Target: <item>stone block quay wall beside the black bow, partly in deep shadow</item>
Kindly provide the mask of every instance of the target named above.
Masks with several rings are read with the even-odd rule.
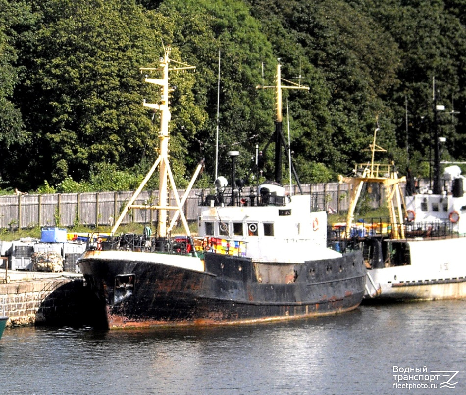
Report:
[[[74,326],[89,321],[90,292],[83,278],[52,278],[0,284],[0,313],[8,327]]]

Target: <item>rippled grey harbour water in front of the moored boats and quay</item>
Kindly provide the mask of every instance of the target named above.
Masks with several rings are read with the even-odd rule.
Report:
[[[465,313],[436,301],[255,326],[6,330],[0,393],[466,394]],[[454,388],[394,388],[394,365],[459,373]]]

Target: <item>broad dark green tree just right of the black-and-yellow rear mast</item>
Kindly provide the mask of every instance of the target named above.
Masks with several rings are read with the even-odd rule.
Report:
[[[379,114],[387,125],[380,139],[392,146],[392,114],[384,99],[397,84],[400,53],[391,36],[341,0],[251,3],[253,15],[264,21],[268,40],[277,43],[279,56],[301,48],[306,72],[301,74],[312,95],[311,106],[301,104],[298,111],[302,133],[294,151],[301,166],[320,162],[334,172],[346,172],[364,157],[362,149],[371,141]],[[308,175],[306,181],[313,180],[311,167],[302,173]]]

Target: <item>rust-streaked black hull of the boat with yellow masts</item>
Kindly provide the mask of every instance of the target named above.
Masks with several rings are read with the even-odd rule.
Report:
[[[137,260],[86,258],[79,266],[107,328],[209,325],[318,316],[349,311],[362,301],[360,251],[341,258],[284,265],[290,283],[259,282],[250,259],[206,253],[204,271]],[[157,255],[157,254],[155,254]],[[260,265],[267,270],[280,264]]]

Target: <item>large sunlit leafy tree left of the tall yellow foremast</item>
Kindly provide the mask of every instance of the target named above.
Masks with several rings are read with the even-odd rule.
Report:
[[[154,59],[160,33],[145,11],[131,0],[41,5],[34,61],[19,98],[33,135],[20,157],[25,165],[33,158],[29,183],[85,181],[91,165],[129,167],[143,151],[153,159],[156,130],[141,105],[148,90],[138,68]]]

